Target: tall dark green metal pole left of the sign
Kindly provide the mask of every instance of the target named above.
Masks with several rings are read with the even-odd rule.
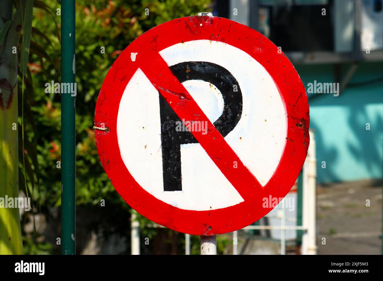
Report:
[[[75,0],[62,0],[61,83],[71,83],[73,89],[75,89],[74,55]],[[74,255],[76,234],[75,94],[70,91],[61,93],[61,161],[61,253]]]

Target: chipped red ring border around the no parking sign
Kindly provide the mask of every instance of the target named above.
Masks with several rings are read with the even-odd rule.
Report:
[[[285,149],[271,179],[252,202],[242,202],[218,210],[182,210],[158,200],[134,180],[121,159],[116,122],[123,91],[137,70],[137,58],[144,52],[159,52],[173,44],[208,39],[237,47],[257,60],[272,76],[287,113]],[[144,51],[142,51],[144,50]],[[146,218],[193,235],[216,235],[235,231],[265,216],[263,198],[283,198],[293,186],[303,166],[309,146],[309,106],[306,90],[288,58],[259,32],[235,21],[209,16],[190,16],[160,24],[134,40],[119,55],[108,71],[98,95],[95,126],[97,150],[102,166],[121,197]],[[278,199],[278,202],[280,200]]]

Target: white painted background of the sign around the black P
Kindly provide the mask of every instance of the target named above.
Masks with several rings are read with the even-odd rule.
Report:
[[[236,78],[242,114],[224,139],[260,184],[267,184],[281,159],[287,129],[285,107],[265,68],[241,49],[218,41],[188,41],[159,54],[169,66],[210,62]],[[202,80],[182,84],[212,123],[223,113],[223,95],[216,85]],[[238,94],[234,89],[233,93]],[[134,73],[121,98],[117,135],[125,166],[138,184],[159,200],[196,211],[243,201],[199,143],[181,144],[182,190],[164,191],[159,93],[141,69]]]

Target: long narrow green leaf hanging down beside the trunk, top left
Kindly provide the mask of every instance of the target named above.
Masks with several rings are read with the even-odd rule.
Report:
[[[25,13],[23,20],[23,44],[21,45],[20,71],[26,75],[28,65],[29,46],[31,44],[32,33],[33,0],[25,3]]]

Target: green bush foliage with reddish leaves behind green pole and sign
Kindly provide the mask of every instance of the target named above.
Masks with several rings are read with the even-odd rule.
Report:
[[[60,74],[60,7],[59,1],[34,1],[34,19],[29,58],[29,76],[25,82],[25,173],[29,193],[33,195],[33,214],[51,213],[61,205],[61,96],[46,94],[45,84],[61,82]],[[145,15],[145,9],[149,15]],[[97,207],[100,200],[119,210],[119,216],[129,218],[130,207],[111,185],[98,158],[93,119],[98,92],[103,79],[118,54],[134,39],[150,28],[182,16],[211,11],[209,0],[110,0],[76,1],[76,203],[77,206]],[[101,50],[105,48],[105,54]],[[21,85],[21,83],[19,83]],[[19,91],[21,93],[21,90]],[[19,110],[21,112],[21,110]],[[20,180],[21,183],[24,180]],[[79,212],[77,211],[77,214]],[[22,222],[28,221],[26,214]],[[56,216],[60,219],[59,216]],[[142,235],[152,238],[156,229],[139,216]],[[123,221],[126,223],[126,220]],[[170,230],[167,230],[170,235]],[[59,232],[59,231],[58,231]],[[23,232],[25,253],[52,253],[59,247],[56,240],[47,241],[34,231]],[[59,233],[56,237],[59,237]],[[184,236],[180,240],[180,250]],[[77,240],[77,239],[76,239]],[[168,241],[169,242],[169,241]],[[77,242],[79,243],[79,242]],[[219,239],[218,252],[228,242]],[[53,247],[53,246],[54,247]],[[181,252],[181,253],[182,253]],[[199,253],[199,237],[192,238],[192,253]]]

